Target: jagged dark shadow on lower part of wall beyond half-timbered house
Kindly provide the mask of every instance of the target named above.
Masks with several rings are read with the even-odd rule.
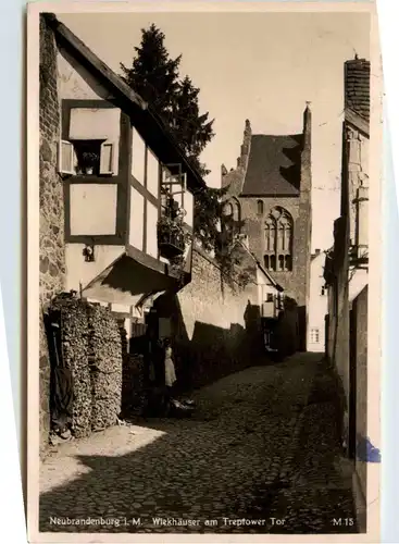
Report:
[[[260,326],[260,308],[248,300],[245,326],[229,329],[196,321],[191,339],[187,334],[179,300],[164,295],[157,302],[159,317],[170,317],[176,373],[182,391],[211,383],[232,372],[265,362]]]

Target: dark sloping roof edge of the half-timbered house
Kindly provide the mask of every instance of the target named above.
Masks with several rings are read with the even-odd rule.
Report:
[[[74,57],[95,73],[112,89],[115,98],[124,104],[123,109],[134,114],[137,128],[151,149],[164,163],[182,163],[187,172],[189,187],[203,187],[205,183],[199,171],[191,164],[177,139],[163,123],[151,104],[135,92],[115,72],[102,62],[75,34],[61,23],[53,13],[41,14],[54,32],[57,40],[73,52]]]

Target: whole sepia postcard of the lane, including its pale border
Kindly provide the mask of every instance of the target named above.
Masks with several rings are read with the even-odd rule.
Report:
[[[374,4],[189,3],[29,5],[30,537],[376,542]]]

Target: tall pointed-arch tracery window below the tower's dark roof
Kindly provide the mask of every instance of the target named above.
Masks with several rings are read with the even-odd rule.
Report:
[[[284,208],[270,212],[264,224],[264,265],[273,272],[292,270],[292,218]]]

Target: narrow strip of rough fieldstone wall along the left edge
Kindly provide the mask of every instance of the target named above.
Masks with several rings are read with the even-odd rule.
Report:
[[[47,443],[50,391],[48,344],[42,323],[42,310],[53,295],[63,290],[65,276],[64,210],[62,180],[57,172],[60,135],[60,108],[57,79],[57,47],[54,36],[40,17],[40,443]]]

